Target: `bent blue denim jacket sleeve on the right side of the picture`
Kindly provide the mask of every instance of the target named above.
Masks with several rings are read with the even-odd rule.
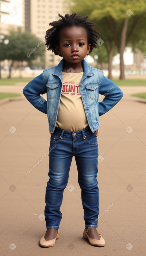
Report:
[[[99,86],[99,93],[105,96],[103,101],[99,102],[99,116],[109,111],[123,97],[121,89],[105,76]]]

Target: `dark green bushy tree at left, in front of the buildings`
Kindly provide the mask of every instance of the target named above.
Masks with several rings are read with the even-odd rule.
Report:
[[[11,68],[14,61],[31,63],[39,56],[44,56],[45,45],[43,42],[45,42],[45,39],[40,40],[30,30],[22,31],[21,28],[18,28],[17,31],[11,30],[10,35],[5,36],[5,38],[9,39],[9,44],[1,43],[1,60],[11,60],[9,78],[11,77]]]

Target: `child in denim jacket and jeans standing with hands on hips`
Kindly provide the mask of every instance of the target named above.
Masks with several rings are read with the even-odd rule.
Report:
[[[48,68],[23,89],[25,97],[47,114],[51,134],[49,181],[46,187],[45,220],[47,231],[40,246],[54,246],[59,238],[62,218],[60,207],[66,188],[72,157],[75,157],[78,182],[82,191],[85,229],[83,238],[91,245],[105,246],[98,233],[98,128],[99,116],[123,97],[118,86],[84,60],[96,48],[100,33],[87,17],[76,13],[59,14],[60,20],[49,25],[46,46],[63,57],[56,67]],[[47,101],[40,94],[47,93]],[[99,93],[106,96],[98,103]]]

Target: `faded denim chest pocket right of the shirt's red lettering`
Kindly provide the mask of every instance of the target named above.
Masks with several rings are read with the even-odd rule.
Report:
[[[99,93],[99,84],[98,83],[89,83],[85,84],[87,96],[89,99],[97,100]]]

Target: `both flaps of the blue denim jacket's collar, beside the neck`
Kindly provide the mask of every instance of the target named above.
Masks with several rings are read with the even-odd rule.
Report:
[[[65,65],[65,60],[62,59],[59,62],[59,64],[56,66],[52,75],[60,76],[62,74],[64,65]],[[82,60],[82,65],[83,65],[84,77],[94,75],[94,73],[92,72],[92,68],[87,64],[87,62],[84,59]]]

